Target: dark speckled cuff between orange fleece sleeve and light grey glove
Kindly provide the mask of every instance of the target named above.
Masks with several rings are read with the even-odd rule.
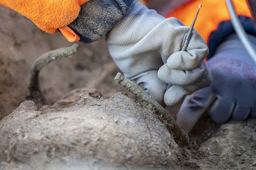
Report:
[[[78,17],[68,26],[79,35],[80,41],[98,40],[126,14],[135,0],[90,0],[81,5]]]

